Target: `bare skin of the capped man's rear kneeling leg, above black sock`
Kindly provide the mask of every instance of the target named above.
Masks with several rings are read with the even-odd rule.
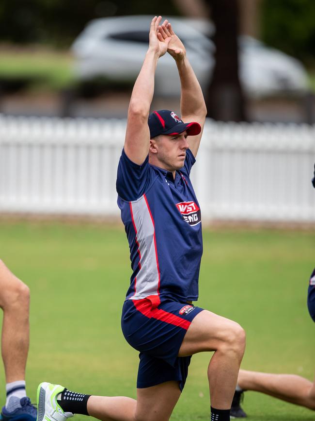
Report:
[[[137,389],[137,401],[122,396],[91,396],[88,413],[102,421],[168,421],[180,396],[178,382]]]

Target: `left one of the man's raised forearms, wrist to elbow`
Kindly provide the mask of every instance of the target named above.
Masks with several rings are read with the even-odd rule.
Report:
[[[154,76],[157,68],[158,54],[148,50],[140,73],[134,84],[129,108],[149,114],[154,94]]]

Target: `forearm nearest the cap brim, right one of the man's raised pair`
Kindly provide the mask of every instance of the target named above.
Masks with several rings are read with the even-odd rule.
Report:
[[[206,115],[204,95],[188,58],[177,60],[176,65],[181,84],[181,115]]]

